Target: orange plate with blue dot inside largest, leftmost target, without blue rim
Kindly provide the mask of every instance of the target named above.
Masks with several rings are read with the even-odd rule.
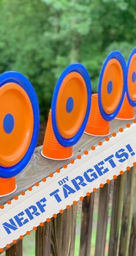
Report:
[[[0,166],[11,167],[24,157],[33,134],[32,105],[21,86],[0,87],[0,112]]]

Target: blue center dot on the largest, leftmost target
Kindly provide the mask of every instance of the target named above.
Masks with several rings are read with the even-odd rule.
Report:
[[[5,133],[12,133],[14,128],[14,118],[13,115],[7,114],[5,115],[5,118],[3,119],[3,129],[5,130]]]

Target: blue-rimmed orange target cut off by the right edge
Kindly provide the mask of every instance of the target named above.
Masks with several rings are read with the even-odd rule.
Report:
[[[127,98],[131,106],[136,106],[136,48],[131,52],[127,63]]]

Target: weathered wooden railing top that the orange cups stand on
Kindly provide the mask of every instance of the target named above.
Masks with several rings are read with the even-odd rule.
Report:
[[[109,134],[109,137],[112,136],[114,131],[118,133],[120,127],[128,129],[126,128],[126,123],[133,123],[133,120],[113,120],[110,123],[111,133]],[[82,155],[85,150],[89,150],[92,145],[97,145],[99,141],[105,141],[105,137],[88,136],[83,134],[80,141],[78,141],[78,143],[73,147],[73,159],[75,159],[79,154]],[[56,169],[61,168],[64,163],[69,163],[70,161],[49,160],[43,158],[43,156],[41,156],[41,149],[41,146],[35,149],[28,166],[17,175],[17,191],[12,195],[0,198],[0,204],[5,204],[7,200],[12,200],[14,195],[20,195],[21,191],[26,191],[29,186],[33,186],[35,182],[41,181],[43,177],[48,177],[48,174],[55,173]]]

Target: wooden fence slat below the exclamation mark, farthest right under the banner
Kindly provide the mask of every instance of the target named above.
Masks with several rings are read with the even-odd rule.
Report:
[[[127,256],[130,242],[130,228],[134,203],[135,172],[132,167],[130,173],[127,171],[124,186],[124,204],[122,215],[122,228],[120,233],[119,255]]]

